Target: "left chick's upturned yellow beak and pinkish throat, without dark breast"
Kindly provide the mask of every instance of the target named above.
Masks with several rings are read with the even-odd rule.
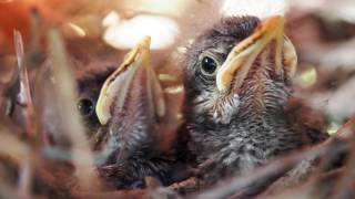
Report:
[[[123,153],[152,142],[164,116],[162,87],[150,62],[150,38],[145,36],[105,80],[95,112],[104,127],[105,144]]]

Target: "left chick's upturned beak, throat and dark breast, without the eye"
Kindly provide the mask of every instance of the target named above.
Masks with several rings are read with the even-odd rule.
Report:
[[[104,82],[97,102],[100,127],[95,149],[104,160],[99,171],[118,189],[144,188],[144,178],[171,184],[173,149],[162,149],[165,102],[151,66],[145,36]]]

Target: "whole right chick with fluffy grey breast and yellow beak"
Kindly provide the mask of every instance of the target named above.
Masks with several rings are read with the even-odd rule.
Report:
[[[327,137],[290,111],[296,53],[283,29],[282,15],[229,17],[186,53],[189,145],[207,185]]]

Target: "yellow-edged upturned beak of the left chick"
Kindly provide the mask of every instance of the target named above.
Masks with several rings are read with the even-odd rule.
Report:
[[[144,36],[139,44],[126,55],[123,63],[104,82],[97,103],[97,114],[102,125],[108,124],[112,117],[112,109],[120,111],[128,103],[134,81],[140,81],[146,96],[139,96],[140,100],[150,101],[151,113],[163,117],[165,104],[161,84],[151,66],[150,52],[151,38]],[[134,83],[136,85],[136,83]],[[139,93],[139,92],[138,92]],[[139,106],[139,104],[136,104]],[[132,118],[134,119],[134,118]]]

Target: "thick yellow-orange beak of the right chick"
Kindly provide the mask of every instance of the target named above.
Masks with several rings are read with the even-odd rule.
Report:
[[[264,20],[252,35],[236,44],[216,75],[220,92],[229,91],[232,82],[242,86],[257,55],[273,41],[275,48],[275,72],[277,75],[293,76],[297,66],[297,55],[291,41],[284,35],[285,19],[275,15]]]

